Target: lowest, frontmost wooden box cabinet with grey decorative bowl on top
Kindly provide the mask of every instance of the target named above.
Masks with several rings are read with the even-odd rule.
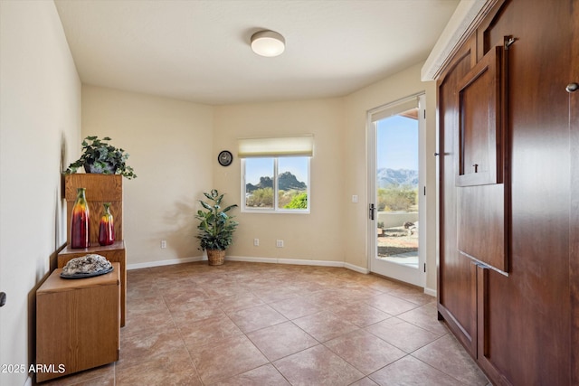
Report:
[[[36,291],[36,381],[119,360],[120,264],[94,278],[55,269]]]

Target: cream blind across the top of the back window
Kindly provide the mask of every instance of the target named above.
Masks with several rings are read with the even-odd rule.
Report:
[[[237,156],[240,158],[314,155],[314,136],[311,134],[300,137],[240,138],[237,144]]]

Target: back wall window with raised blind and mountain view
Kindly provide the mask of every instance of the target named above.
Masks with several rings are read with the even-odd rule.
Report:
[[[242,212],[309,212],[313,137],[240,139]]]

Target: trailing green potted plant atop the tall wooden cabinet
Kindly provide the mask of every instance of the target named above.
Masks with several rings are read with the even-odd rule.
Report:
[[[84,167],[86,173],[121,174],[128,180],[137,178],[133,168],[127,165],[128,154],[122,148],[109,144],[110,138],[86,137],[82,141],[82,155],[64,172],[73,174]]]

